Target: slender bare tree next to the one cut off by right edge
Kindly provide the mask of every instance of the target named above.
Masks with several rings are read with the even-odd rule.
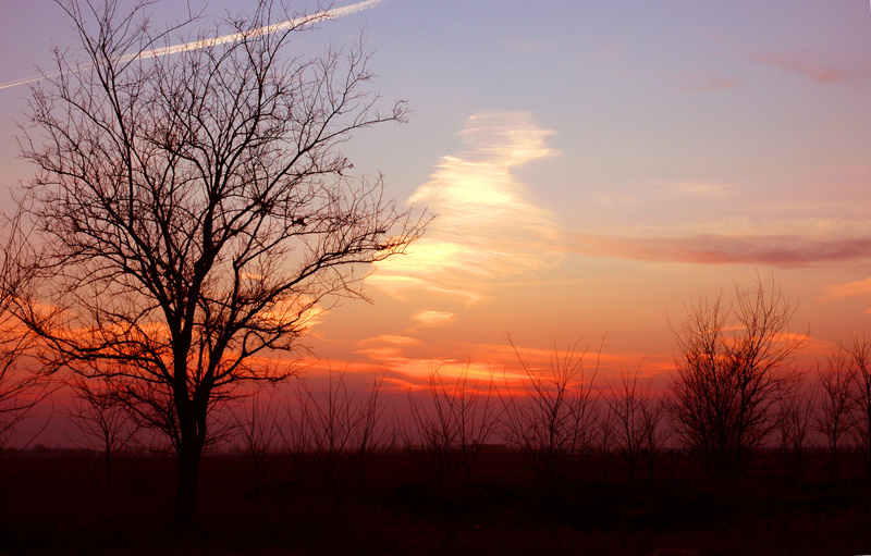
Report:
[[[832,482],[841,479],[838,454],[851,425],[855,379],[852,371],[854,368],[841,347],[829,357],[824,369],[817,369],[820,380],[820,404],[814,422],[817,430],[825,436],[829,450],[829,478]]]

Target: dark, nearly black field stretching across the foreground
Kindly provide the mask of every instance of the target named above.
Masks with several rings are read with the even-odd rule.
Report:
[[[735,483],[662,455],[635,483],[616,456],[590,457],[543,484],[519,454],[482,454],[471,480],[407,453],[334,462],[245,456],[203,464],[198,524],[170,528],[171,458],[19,455],[0,466],[2,554],[799,554],[871,553],[871,494],[825,480],[811,455],[801,481],[775,456]],[[326,469],[333,468],[332,472]],[[859,473],[854,462],[852,477]],[[696,551],[675,553],[668,551]],[[662,552],[657,552],[662,551]]]

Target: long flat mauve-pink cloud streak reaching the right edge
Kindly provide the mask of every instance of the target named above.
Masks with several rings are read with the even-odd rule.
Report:
[[[795,235],[612,237],[578,235],[573,250],[625,259],[805,267],[871,258],[871,238],[811,239]]]

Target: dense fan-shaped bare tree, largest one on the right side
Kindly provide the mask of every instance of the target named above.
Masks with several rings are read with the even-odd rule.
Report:
[[[794,305],[760,279],[735,298],[702,297],[675,330],[679,356],[667,411],[684,445],[721,475],[740,472],[776,425],[777,394],[795,376],[807,335],[789,332]]]

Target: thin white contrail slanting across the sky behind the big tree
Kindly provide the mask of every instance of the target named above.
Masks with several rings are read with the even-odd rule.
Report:
[[[242,40],[246,37],[258,37],[261,35],[271,35],[272,33],[278,33],[281,30],[289,30],[294,27],[298,27],[300,25],[309,25],[312,23],[317,23],[324,20],[335,20],[338,17],[343,17],[345,15],[351,15],[353,13],[361,12],[364,10],[369,10],[375,8],[376,5],[387,2],[388,0],[366,0],[365,2],[358,2],[356,4],[345,5],[343,8],[334,8],[332,10],[324,10],[322,12],[318,12],[311,15],[304,15],[302,17],[295,17],[293,20],[287,20],[286,22],[281,23],[273,23],[272,25],[267,25],[265,27],[260,27],[257,29],[248,30],[245,33],[234,33],[232,35],[224,35],[222,37],[214,37],[214,38],[207,38],[203,40],[194,40],[191,42],[185,42],[183,45],[175,45],[173,47],[162,47],[156,48],[154,50],[146,50],[144,52],[135,52],[131,54],[124,54],[118,59],[119,62],[130,62],[133,60],[148,60],[149,58],[158,58],[161,55],[170,55],[170,54],[177,54],[179,52],[188,52],[191,50],[199,50],[200,48],[209,48],[209,47],[217,47],[219,45],[226,45],[228,42],[236,42]],[[75,71],[81,72],[84,70],[88,70],[94,67],[93,64],[79,65]],[[7,82],[0,84],[0,90],[9,89],[11,87],[17,87],[19,85],[27,85],[28,83],[36,83],[38,81],[45,79],[46,77],[57,77],[60,75],[59,72],[49,73],[49,74],[39,74],[39,75],[32,75],[30,77],[24,77],[22,79],[16,79],[13,82]]]

